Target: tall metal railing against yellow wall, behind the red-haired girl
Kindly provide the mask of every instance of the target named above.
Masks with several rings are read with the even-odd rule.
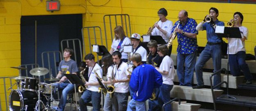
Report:
[[[120,16],[120,17],[119,17]],[[115,27],[118,26],[120,24],[120,26],[122,26],[122,28],[124,29],[124,31],[126,32],[126,36],[127,37],[131,37],[131,23],[130,23],[130,16],[128,14],[113,14],[113,15],[104,15],[103,17],[103,21],[104,21],[104,31],[105,31],[105,37],[107,38],[107,34],[106,34],[106,17],[108,17],[109,19],[109,30],[110,30],[110,34],[111,34],[111,41],[113,40],[113,27],[112,27],[112,19],[111,17],[114,17],[114,23],[115,23]],[[118,19],[120,18],[120,19]],[[128,20],[127,20],[128,19]],[[118,20],[120,20],[120,23],[118,23]],[[128,24],[127,24],[128,22]],[[129,30],[128,30],[129,29]],[[130,35],[128,35],[130,34]],[[108,46],[106,44],[106,48],[108,49]]]

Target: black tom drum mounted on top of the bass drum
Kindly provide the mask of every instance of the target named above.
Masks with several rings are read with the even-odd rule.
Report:
[[[38,90],[38,79],[32,77],[25,78],[25,90],[27,91],[37,91]]]

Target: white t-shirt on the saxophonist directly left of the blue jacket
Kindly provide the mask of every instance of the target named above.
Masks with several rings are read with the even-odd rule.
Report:
[[[117,80],[126,79],[127,75],[129,75],[129,73],[127,72],[128,65],[125,62],[122,62],[118,69],[117,67],[118,65],[114,66],[114,70],[113,70],[113,67],[108,68],[107,78],[111,77],[112,70],[113,70],[113,76]],[[129,82],[115,83],[114,87],[115,87],[114,89],[115,92],[127,93],[129,91]]]

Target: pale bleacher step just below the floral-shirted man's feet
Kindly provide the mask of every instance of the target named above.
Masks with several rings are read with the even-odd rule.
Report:
[[[220,96],[223,93],[223,90],[214,89],[215,97]],[[170,91],[170,96],[172,98],[180,98],[185,100],[195,100],[202,102],[211,102],[213,103],[211,89],[193,89],[188,86],[179,86],[174,85]]]

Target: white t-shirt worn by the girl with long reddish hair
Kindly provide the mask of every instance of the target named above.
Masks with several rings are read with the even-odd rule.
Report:
[[[121,41],[121,39],[116,39],[116,40],[113,39],[111,48],[113,48],[114,51],[116,51],[116,48],[117,48],[120,41]],[[121,48],[119,50],[119,51],[122,52],[122,59],[128,59],[128,54],[123,52],[123,50],[124,50],[124,45],[129,45],[129,44],[131,44],[131,40],[128,37],[125,37],[124,41],[121,44]]]

